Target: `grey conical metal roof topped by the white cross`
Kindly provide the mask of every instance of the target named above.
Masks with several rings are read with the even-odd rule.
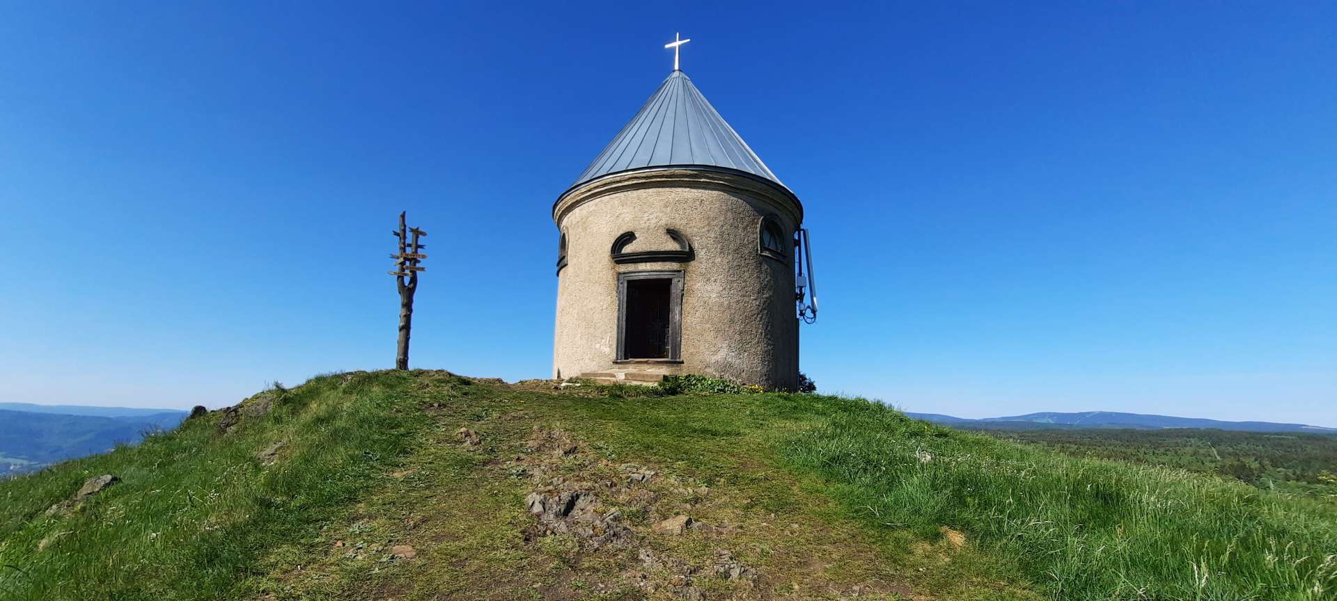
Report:
[[[722,167],[785,188],[682,71],[659,84],[571,188],[604,175],[652,167]]]

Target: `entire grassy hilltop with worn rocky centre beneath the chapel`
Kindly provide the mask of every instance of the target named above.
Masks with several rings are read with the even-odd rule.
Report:
[[[16,600],[1337,598],[1334,502],[821,395],[333,374],[0,498]]]

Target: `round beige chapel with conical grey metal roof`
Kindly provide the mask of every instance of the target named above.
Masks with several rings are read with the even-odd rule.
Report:
[[[664,79],[552,219],[554,377],[794,389],[804,207],[686,73]]]

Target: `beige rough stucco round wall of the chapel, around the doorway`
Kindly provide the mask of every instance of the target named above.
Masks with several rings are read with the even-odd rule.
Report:
[[[668,175],[627,175],[619,178],[620,187],[568,195],[559,203],[558,226],[568,246],[558,283],[554,377],[636,370],[793,387],[798,370],[793,248],[786,248],[783,262],[761,255],[758,224],[763,215],[774,216],[787,239],[797,211],[755,183],[729,186],[730,178],[742,178],[711,174],[711,183],[702,186],[690,171]],[[677,250],[667,228],[691,242],[693,260],[612,262],[612,242],[626,231],[636,234],[627,252]],[[615,363],[618,274],[671,270],[683,271],[682,363]]]

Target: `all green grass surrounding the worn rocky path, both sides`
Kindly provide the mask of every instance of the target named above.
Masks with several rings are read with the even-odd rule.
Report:
[[[971,556],[996,558],[1004,580],[1054,600],[1337,600],[1337,516],[1328,501],[1064,457],[860,399],[614,398],[623,393],[475,385],[481,390],[461,401],[457,383],[386,371],[274,386],[263,393],[277,398],[274,409],[231,433],[221,431],[215,413],[139,446],[3,482],[0,598],[245,598],[255,593],[250,576],[298,569],[259,565],[267,552],[328,550],[313,548],[321,528],[441,427],[424,406],[444,401],[468,411],[485,398],[493,406],[480,411],[524,407],[516,417],[562,421],[622,453],[690,466],[725,489],[790,470],[817,481],[805,493],[825,491],[848,509],[834,518],[854,514],[892,534],[872,538],[908,541],[910,532],[932,541],[952,528],[979,549]],[[539,402],[520,405],[527,399]],[[257,458],[275,442],[286,445],[277,462]],[[45,516],[104,473],[123,482],[70,516]],[[769,505],[781,498],[754,499],[754,508],[782,512]]]

